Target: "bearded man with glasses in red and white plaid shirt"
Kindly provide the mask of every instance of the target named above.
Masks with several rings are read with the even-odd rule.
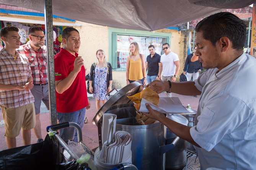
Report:
[[[18,52],[26,56],[29,60],[34,83],[31,93],[35,98],[34,105],[36,109],[36,126],[34,128],[34,133],[38,139],[37,142],[42,142],[41,122],[39,119],[41,101],[44,102],[49,110],[47,54],[46,46],[44,45],[45,36],[42,28],[37,26],[29,28],[28,36],[29,42],[21,45]]]

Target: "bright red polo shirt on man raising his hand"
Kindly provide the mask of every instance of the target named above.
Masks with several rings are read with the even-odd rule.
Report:
[[[55,81],[65,79],[73,71],[76,57],[78,53],[74,56],[67,50],[60,49],[60,52],[54,56]],[[66,91],[62,94],[56,91],[56,106],[57,112],[62,113],[75,112],[88,106],[84,66]]]

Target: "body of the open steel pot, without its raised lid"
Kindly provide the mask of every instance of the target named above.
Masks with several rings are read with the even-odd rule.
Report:
[[[116,130],[132,135],[132,164],[139,170],[165,169],[165,154],[159,156],[159,147],[166,142],[166,128],[160,122],[139,125],[135,120],[134,104],[111,106],[106,113],[117,115]]]

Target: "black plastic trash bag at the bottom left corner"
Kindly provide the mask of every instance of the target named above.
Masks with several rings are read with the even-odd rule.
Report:
[[[0,170],[58,170],[61,162],[59,141],[49,135],[40,143],[0,151]]]

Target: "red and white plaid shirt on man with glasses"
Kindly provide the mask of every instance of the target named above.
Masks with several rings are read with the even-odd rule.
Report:
[[[17,51],[28,58],[33,83],[48,83],[46,46],[44,45],[43,47],[40,47],[38,51],[34,51],[30,46],[30,42],[28,42],[21,45]]]

